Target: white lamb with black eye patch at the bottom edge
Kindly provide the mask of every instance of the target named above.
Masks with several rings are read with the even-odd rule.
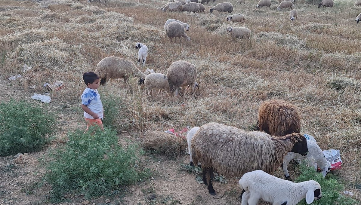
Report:
[[[296,205],[305,198],[311,204],[322,197],[321,186],[314,180],[293,183],[262,170],[245,173],[238,184],[242,189],[241,205],[256,205],[259,199],[273,205]]]

